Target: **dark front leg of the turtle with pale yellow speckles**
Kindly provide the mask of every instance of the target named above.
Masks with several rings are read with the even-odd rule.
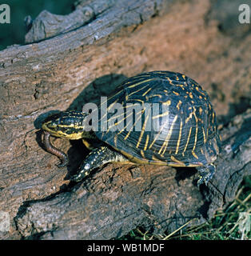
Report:
[[[71,180],[79,182],[88,176],[92,170],[103,166],[107,162],[129,163],[129,160],[117,151],[111,150],[107,146],[101,146],[88,154],[84,162],[82,162],[82,165],[79,167],[78,174],[72,176]]]

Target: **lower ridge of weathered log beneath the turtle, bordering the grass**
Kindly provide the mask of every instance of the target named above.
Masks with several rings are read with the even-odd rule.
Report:
[[[217,172],[207,187],[197,188],[194,168],[109,164],[80,184],[26,202],[18,230],[40,239],[110,239],[137,226],[162,234],[189,220],[201,224],[233,201],[251,174],[250,123],[251,109],[222,128]]]

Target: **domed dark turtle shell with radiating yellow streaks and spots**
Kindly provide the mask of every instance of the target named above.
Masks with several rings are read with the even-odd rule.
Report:
[[[192,78],[169,71],[139,74],[102,102],[97,137],[131,162],[205,166],[218,154],[215,112]],[[103,126],[104,128],[104,126]]]

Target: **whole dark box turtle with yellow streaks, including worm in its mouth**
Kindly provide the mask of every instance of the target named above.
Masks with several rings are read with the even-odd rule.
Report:
[[[87,129],[95,111],[98,128]],[[46,150],[62,160],[58,166],[66,166],[68,159],[51,145],[50,135],[82,138],[91,150],[72,177],[76,182],[107,162],[131,162],[196,166],[198,184],[206,184],[213,177],[221,145],[208,94],[192,78],[169,71],[128,78],[91,114],[54,114],[43,122],[42,130]]]

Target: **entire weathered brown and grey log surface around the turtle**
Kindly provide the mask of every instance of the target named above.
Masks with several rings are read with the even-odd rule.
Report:
[[[85,26],[0,52],[0,210],[11,220],[1,238],[109,239],[136,226],[171,231],[212,218],[250,174],[250,25],[227,26],[232,13],[225,9],[222,18],[210,1],[101,2],[80,2],[95,14]],[[70,157],[68,170],[58,170],[42,148],[42,120],[52,110],[97,102],[148,70],[185,73],[208,91],[223,138],[212,183],[198,190],[193,168],[118,164],[69,182],[86,149],[54,139]]]

